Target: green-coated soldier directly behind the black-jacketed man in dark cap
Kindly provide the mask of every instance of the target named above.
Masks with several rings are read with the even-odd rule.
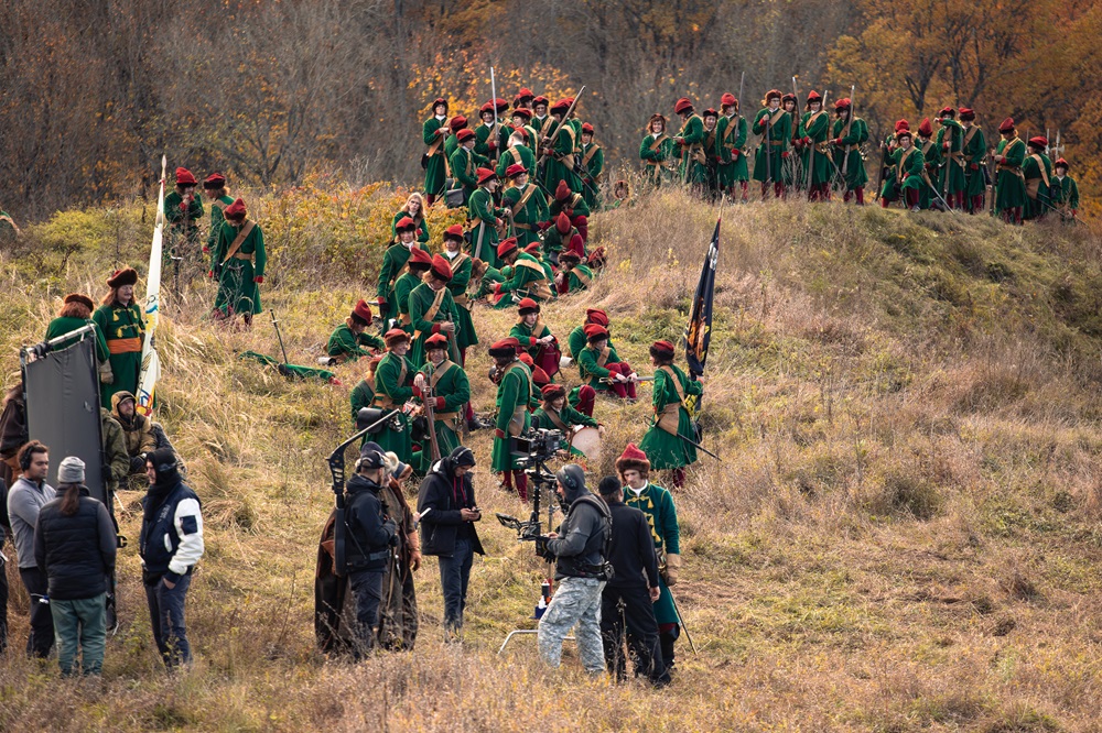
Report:
[[[433,427],[440,456],[447,456],[460,447],[463,430],[463,412],[471,402],[471,382],[463,368],[447,358],[447,337],[433,333],[424,342],[425,363],[413,378],[413,395],[422,403],[432,401]],[[413,453],[412,466],[418,473],[426,474],[435,457],[428,438],[421,450]]]

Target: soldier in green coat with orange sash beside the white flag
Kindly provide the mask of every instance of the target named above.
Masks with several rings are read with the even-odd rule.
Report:
[[[91,319],[104,335],[110,370],[99,371],[99,404],[111,404],[111,395],[121,390],[138,392],[141,373],[141,348],[145,341],[145,316],[134,302],[138,271],[116,270],[107,278],[110,288]]]

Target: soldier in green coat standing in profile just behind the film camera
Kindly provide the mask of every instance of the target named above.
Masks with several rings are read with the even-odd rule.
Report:
[[[532,424],[531,413],[528,412],[532,401],[532,373],[517,359],[517,346],[516,339],[501,339],[489,348],[489,355],[500,374],[490,468],[501,473],[503,489],[512,491],[516,484],[520,500],[528,501],[528,477],[512,455],[512,444]]]

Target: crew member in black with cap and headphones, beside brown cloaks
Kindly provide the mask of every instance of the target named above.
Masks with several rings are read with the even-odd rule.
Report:
[[[379,492],[382,491],[386,457],[365,445],[356,461],[356,473],[345,488],[347,505],[345,525],[348,537],[345,557],[348,566],[348,588],[356,601],[356,656],[377,643],[379,603],[382,600],[382,576],[388,562],[395,561],[398,525],[382,513]]]

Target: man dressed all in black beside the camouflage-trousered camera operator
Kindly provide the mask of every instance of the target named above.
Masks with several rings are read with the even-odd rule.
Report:
[[[670,675],[662,663],[658,622],[652,608],[661,595],[661,589],[658,586],[658,556],[650,536],[650,524],[646,514],[624,503],[624,488],[616,477],[602,479],[597,491],[613,515],[608,561],[616,573],[601,593],[601,636],[608,671],[616,675],[617,680],[626,677],[623,635],[627,622],[627,639],[635,659],[636,676],[646,675],[655,687],[669,685]]]

